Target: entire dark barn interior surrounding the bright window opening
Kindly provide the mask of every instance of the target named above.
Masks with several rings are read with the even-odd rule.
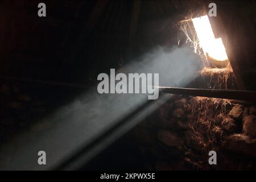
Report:
[[[256,1],[40,2],[0,1],[0,169],[256,169]],[[212,2],[225,61],[192,24]],[[159,98],[99,94],[110,69],[159,73]]]

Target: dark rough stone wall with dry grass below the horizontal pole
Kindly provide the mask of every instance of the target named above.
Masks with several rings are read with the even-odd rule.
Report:
[[[245,102],[177,96],[129,137],[147,159],[146,169],[255,169],[255,109]],[[208,163],[212,150],[217,165]]]

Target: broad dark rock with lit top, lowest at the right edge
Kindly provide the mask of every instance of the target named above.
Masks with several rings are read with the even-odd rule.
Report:
[[[251,139],[245,134],[235,134],[226,137],[222,147],[238,154],[256,157],[256,139]]]

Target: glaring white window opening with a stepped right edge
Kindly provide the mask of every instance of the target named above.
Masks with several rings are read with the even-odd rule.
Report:
[[[221,38],[216,39],[213,34],[212,26],[208,16],[201,16],[192,19],[196,30],[197,38],[199,39],[200,47],[203,49],[205,55],[212,57],[218,61],[225,61],[228,59],[226,50]]]

